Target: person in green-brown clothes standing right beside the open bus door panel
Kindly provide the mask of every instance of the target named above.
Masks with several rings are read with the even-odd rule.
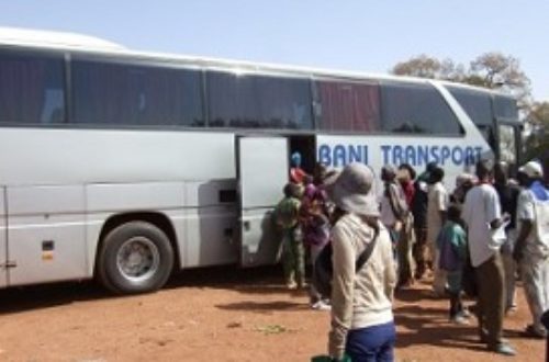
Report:
[[[290,290],[305,286],[305,257],[300,227],[301,190],[295,183],[284,186],[284,199],[274,210],[277,225],[282,229],[282,265]]]

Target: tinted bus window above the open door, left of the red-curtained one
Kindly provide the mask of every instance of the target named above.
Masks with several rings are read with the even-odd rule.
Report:
[[[309,80],[206,73],[212,127],[311,129]]]

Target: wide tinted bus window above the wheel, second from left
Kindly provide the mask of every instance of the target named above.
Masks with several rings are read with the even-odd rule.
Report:
[[[76,60],[72,120],[83,124],[204,124],[199,71]]]

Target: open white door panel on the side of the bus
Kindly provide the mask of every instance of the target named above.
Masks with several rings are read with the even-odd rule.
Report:
[[[280,234],[272,211],[288,182],[288,140],[283,137],[237,138],[240,202],[240,264],[273,264],[279,259]]]

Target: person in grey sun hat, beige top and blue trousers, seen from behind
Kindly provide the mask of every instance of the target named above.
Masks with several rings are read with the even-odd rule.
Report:
[[[333,291],[329,355],[339,361],[392,361],[395,327],[392,295],[396,283],[391,239],[379,220],[374,177],[363,163],[347,165],[327,181],[328,196],[341,215],[332,229]],[[372,244],[373,242],[373,244]],[[358,256],[370,246],[366,263]]]

